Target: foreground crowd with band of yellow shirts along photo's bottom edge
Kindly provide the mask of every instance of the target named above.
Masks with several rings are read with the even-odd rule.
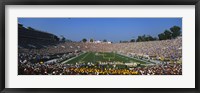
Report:
[[[179,63],[135,68],[107,68],[102,64],[21,63],[19,75],[182,75]]]

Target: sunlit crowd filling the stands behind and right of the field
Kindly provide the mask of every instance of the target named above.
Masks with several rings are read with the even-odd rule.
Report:
[[[23,49],[22,49],[23,50]],[[31,49],[39,54],[67,53],[74,51],[113,52],[120,54],[145,57],[154,60],[178,61],[182,58],[182,38],[162,41],[96,44],[83,42],[65,42],[42,49]]]

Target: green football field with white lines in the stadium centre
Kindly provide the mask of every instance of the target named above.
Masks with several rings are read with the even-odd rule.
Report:
[[[97,63],[97,62],[121,62],[121,63],[137,63],[148,64],[147,62],[137,60],[131,57],[123,56],[114,52],[86,52],[77,57],[63,61],[63,64],[76,64],[76,63]]]

